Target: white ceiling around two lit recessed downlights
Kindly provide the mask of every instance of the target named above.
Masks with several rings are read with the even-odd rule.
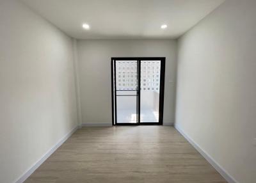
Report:
[[[178,38],[225,0],[20,1],[74,38],[125,39]]]

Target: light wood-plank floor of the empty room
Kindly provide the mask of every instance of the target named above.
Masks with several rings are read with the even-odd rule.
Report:
[[[86,127],[26,183],[226,182],[173,127]]]

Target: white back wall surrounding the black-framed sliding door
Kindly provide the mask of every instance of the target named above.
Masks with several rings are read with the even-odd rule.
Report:
[[[166,57],[164,123],[174,122],[175,40],[79,40],[77,42],[83,123],[111,123],[111,57]]]

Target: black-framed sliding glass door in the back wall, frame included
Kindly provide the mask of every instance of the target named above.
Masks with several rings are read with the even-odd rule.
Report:
[[[112,58],[113,125],[163,124],[165,58]]]

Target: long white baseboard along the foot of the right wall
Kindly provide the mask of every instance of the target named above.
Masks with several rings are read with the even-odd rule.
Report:
[[[174,125],[175,129],[186,138],[189,143],[222,175],[224,179],[227,180],[228,183],[239,183],[234,177],[229,175],[227,171],[225,171],[220,164],[218,164],[211,155],[207,154],[193,139],[191,139],[187,134],[185,134],[182,129],[180,129],[179,125]]]

